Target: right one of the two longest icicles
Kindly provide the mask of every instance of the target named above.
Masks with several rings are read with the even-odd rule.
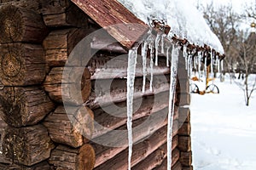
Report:
[[[172,167],[172,125],[174,115],[174,96],[177,81],[177,61],[178,49],[172,47],[172,65],[171,65],[171,79],[170,79],[170,94],[169,94],[169,112],[168,112],[168,127],[167,127],[167,169]]]

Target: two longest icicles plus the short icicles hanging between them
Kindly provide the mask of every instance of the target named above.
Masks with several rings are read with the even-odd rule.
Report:
[[[167,162],[168,169],[171,169],[172,165],[172,122],[173,122],[173,111],[174,111],[174,94],[176,88],[176,77],[177,77],[177,60],[178,60],[178,48],[175,45],[172,47],[165,48],[164,38],[165,34],[157,34],[155,37],[149,34],[142,44],[142,58],[143,58],[143,93],[145,92],[146,77],[147,75],[147,54],[149,50],[150,54],[150,85],[149,90],[152,91],[153,88],[153,70],[154,65],[158,65],[158,53],[166,53],[166,66],[169,65],[169,51],[172,48],[172,61],[171,61],[171,84],[170,84],[170,99],[169,99],[169,114],[168,114],[168,130],[167,130]],[[160,48],[159,48],[160,47]],[[166,50],[166,51],[165,51]],[[127,68],[127,130],[128,130],[128,169],[131,169],[131,155],[132,155],[132,101],[133,101],[133,91],[134,91],[134,81],[135,81],[135,71],[137,65],[137,48],[132,48],[129,50],[128,56],[128,68]]]

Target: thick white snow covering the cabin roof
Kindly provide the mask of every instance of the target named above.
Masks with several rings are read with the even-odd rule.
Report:
[[[168,36],[174,34],[199,46],[207,44],[219,53],[224,48],[218,37],[207,26],[202,14],[188,0],[118,0],[148,25],[150,20],[162,20],[171,26]]]

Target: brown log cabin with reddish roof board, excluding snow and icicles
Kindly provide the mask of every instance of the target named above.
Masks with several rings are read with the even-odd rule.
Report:
[[[143,48],[139,42],[149,30],[116,0],[0,0],[0,169],[127,169],[128,146],[113,147],[118,137],[111,132],[127,131],[127,54]],[[155,26],[154,36],[169,30]],[[81,48],[84,38],[89,42]],[[185,45],[209,50],[177,37],[165,41],[181,51]],[[79,58],[70,59],[77,48]],[[143,62],[137,59],[134,170],[167,169],[167,53],[154,56],[159,60],[151,71],[155,81],[151,87],[147,78],[144,90]],[[172,170],[192,170],[189,79],[180,54]],[[150,50],[146,55],[149,59]],[[65,71],[72,74],[63,77]],[[147,121],[150,128],[140,127]]]

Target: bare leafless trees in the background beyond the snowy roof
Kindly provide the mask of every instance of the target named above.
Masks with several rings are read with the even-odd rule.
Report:
[[[198,8],[224,47],[224,72],[230,73],[230,81],[235,80],[236,72],[240,73],[238,77],[241,79],[236,80],[236,84],[244,91],[246,105],[249,105],[256,86],[256,77],[255,80],[250,77],[256,73],[256,36],[253,31],[243,31],[241,23],[248,17],[256,19],[254,6],[246,8],[244,14],[234,12],[231,5],[216,8],[209,3],[207,6],[198,5]]]

